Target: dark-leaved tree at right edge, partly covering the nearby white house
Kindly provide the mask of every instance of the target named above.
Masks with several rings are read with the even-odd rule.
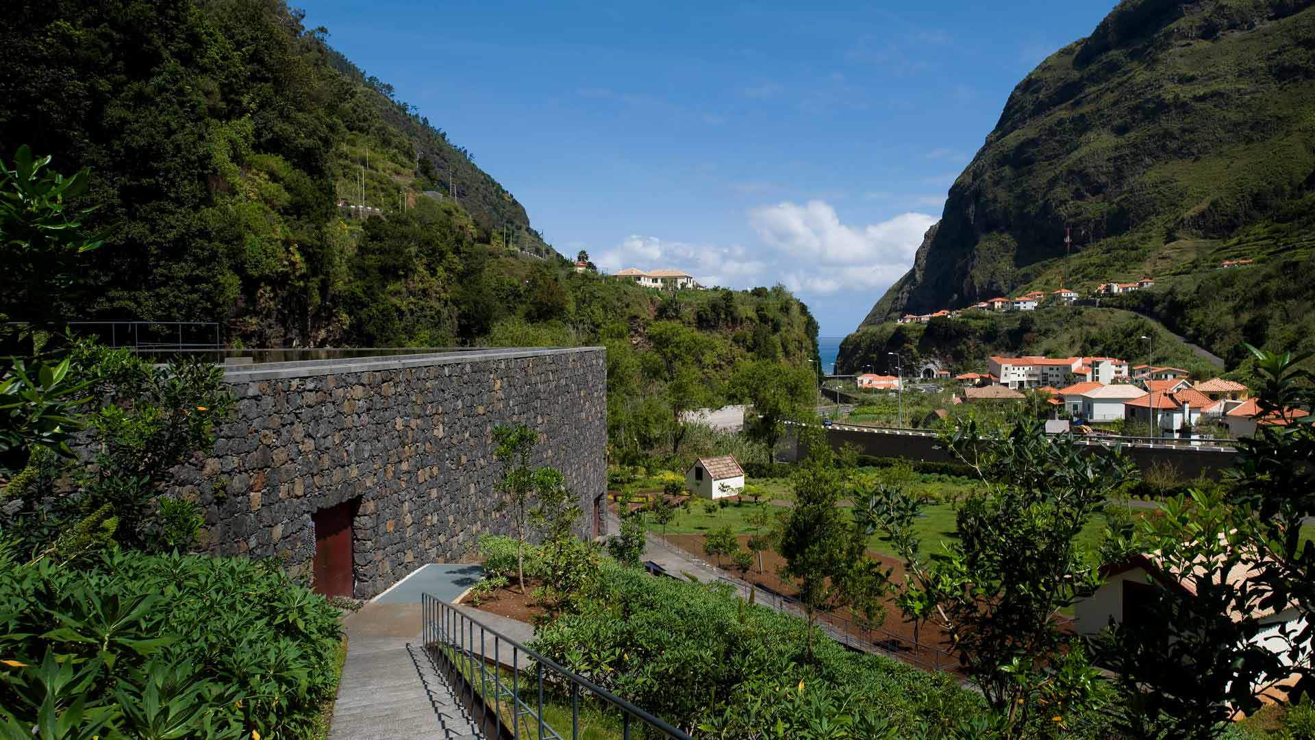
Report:
[[[1111,548],[1152,553],[1160,570],[1178,574],[1173,586],[1152,579],[1141,619],[1111,625],[1101,641],[1130,699],[1119,720],[1137,736],[1218,737],[1276,683],[1295,677],[1294,697],[1311,687],[1315,548],[1301,535],[1315,515],[1311,356],[1247,350],[1261,379],[1260,417],[1279,423],[1239,440],[1227,495],[1180,495],[1137,529],[1126,524],[1116,535],[1127,544]],[[1228,577],[1239,570],[1248,577]],[[1264,623],[1285,610],[1304,624]],[[1261,629],[1269,633],[1257,644]]]

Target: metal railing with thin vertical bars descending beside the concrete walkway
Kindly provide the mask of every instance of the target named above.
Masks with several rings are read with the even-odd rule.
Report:
[[[447,602],[422,594],[421,610],[425,649],[448,677],[458,679],[460,698],[489,736],[580,740],[588,729],[581,722],[585,710],[619,712],[623,740],[635,733],[693,740]],[[554,720],[556,727],[548,722],[550,714],[560,716]],[[496,732],[489,733],[489,727],[497,728]]]

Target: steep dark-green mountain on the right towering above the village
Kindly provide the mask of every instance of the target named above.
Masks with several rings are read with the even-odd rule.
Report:
[[[1151,275],[1140,309],[1231,362],[1239,341],[1311,346],[1312,5],[1119,3],[1014,88],[863,325]]]

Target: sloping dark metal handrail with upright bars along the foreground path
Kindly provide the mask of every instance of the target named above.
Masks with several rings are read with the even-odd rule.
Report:
[[[502,635],[497,629],[472,619],[469,615],[447,602],[442,602],[429,594],[421,594],[421,635],[425,649],[442,665],[446,665],[450,672],[455,672],[462,677],[467,690],[469,691],[468,706],[472,711],[476,704],[479,706],[483,712],[481,723],[487,726],[489,719],[492,719],[493,722],[501,724],[505,729],[509,729],[513,740],[519,740],[522,736],[530,737],[531,735],[526,733],[529,733],[531,727],[535,724],[538,726],[538,732],[533,735],[533,737],[537,737],[538,740],[543,740],[546,737],[565,740],[543,719],[544,683],[547,683],[550,689],[562,689],[564,685],[569,685],[571,687],[571,740],[580,739],[581,690],[621,710],[622,736],[625,740],[630,740],[631,726],[636,720],[642,723],[642,726],[659,732],[661,737],[693,740],[693,737],[681,732],[676,727],[672,727],[667,722],[663,722],[626,699],[617,697],[611,691],[608,691],[583,675],[567,670],[551,658],[542,656],[537,650],[526,648],[521,643]],[[476,629],[479,631],[477,637]],[[488,652],[489,637],[493,639],[492,656]],[[476,641],[479,643],[477,647]],[[504,644],[510,649],[510,685],[506,683],[506,679],[502,677],[500,670],[504,665],[501,660],[505,652],[502,648]],[[522,687],[530,687],[529,682],[523,685],[521,682],[522,674],[530,673],[530,670],[521,669],[521,656],[534,661],[534,675],[526,677],[527,681],[533,679],[537,683],[537,699],[533,697],[530,699],[530,702],[534,702],[534,706],[531,706],[531,703],[521,695]],[[492,670],[489,669],[490,658],[493,662]],[[550,672],[551,675],[544,675],[544,672]],[[476,682],[479,686],[476,686]],[[490,691],[493,694],[492,704],[489,702]],[[510,699],[510,712],[506,712],[502,707],[504,699]],[[506,718],[504,714],[510,714],[512,716]],[[529,719],[529,723],[522,723],[521,720],[523,718]]]

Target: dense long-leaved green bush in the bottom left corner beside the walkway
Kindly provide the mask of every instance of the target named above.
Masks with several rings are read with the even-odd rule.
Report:
[[[338,612],[277,566],[109,549],[75,570],[12,554],[0,736],[38,723],[68,740],[317,733],[338,682]]]

